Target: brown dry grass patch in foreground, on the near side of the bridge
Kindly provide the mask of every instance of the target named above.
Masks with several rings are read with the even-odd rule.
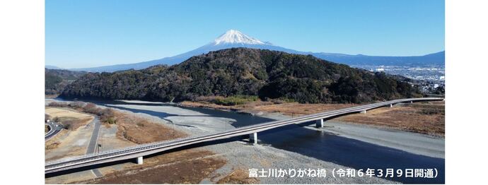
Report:
[[[132,165],[102,178],[81,184],[198,184],[208,178],[226,160],[207,150],[181,150],[144,159],[143,165]]]

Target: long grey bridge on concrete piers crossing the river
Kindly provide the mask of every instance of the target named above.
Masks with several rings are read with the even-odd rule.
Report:
[[[76,157],[66,157],[59,160],[52,160],[45,163],[45,174],[53,172],[61,172],[67,169],[76,169],[81,167],[88,167],[92,165],[100,165],[108,162],[115,162],[121,160],[136,159],[138,164],[142,164],[143,157],[154,153],[161,153],[165,150],[174,148],[181,148],[186,145],[192,145],[196,143],[203,143],[207,141],[216,141],[225,138],[232,138],[236,136],[250,136],[252,143],[257,143],[257,133],[274,129],[280,126],[286,126],[289,124],[301,124],[308,121],[315,121],[317,127],[324,126],[324,119],[331,117],[338,117],[345,114],[362,113],[366,114],[366,111],[370,109],[376,109],[378,107],[393,107],[397,103],[413,103],[422,101],[441,101],[443,98],[439,97],[421,97],[421,98],[409,98],[400,100],[391,100],[387,102],[378,102],[370,105],[361,105],[357,107],[349,107],[345,109],[337,109],[328,112],[322,112],[318,114],[310,114],[303,117],[296,117],[292,119],[270,121],[262,124],[255,124],[251,126],[244,126],[228,131],[222,131],[219,133],[211,133],[204,136],[194,136],[190,138],[180,138],[173,141],[161,141],[155,143],[147,143],[143,145],[136,145],[129,148],[122,148],[119,150],[110,150],[102,153],[95,153],[90,155],[82,155]]]

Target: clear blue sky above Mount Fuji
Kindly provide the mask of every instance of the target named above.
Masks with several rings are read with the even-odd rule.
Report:
[[[412,56],[444,49],[444,1],[46,0],[46,64],[161,59],[226,30],[303,52]]]

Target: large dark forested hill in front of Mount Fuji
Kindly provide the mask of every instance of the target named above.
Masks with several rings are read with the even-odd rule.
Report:
[[[372,73],[311,55],[232,48],[174,66],[88,73],[61,97],[182,101],[199,96],[258,95],[262,100],[371,102],[421,96],[417,88],[385,73]]]

